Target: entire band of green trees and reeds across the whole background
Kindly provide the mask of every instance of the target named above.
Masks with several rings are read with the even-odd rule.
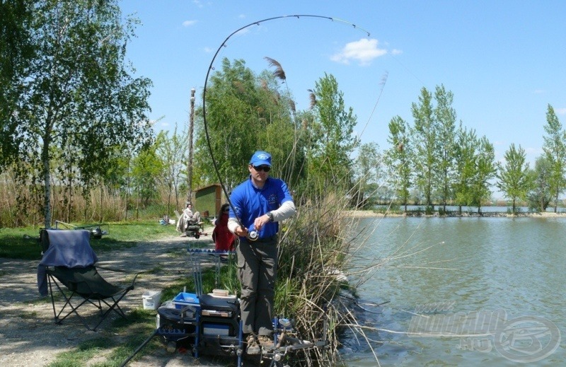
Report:
[[[391,119],[381,150],[353,134],[357,116],[332,74],[314,81],[308,107],[296,110],[270,57],[259,74],[244,60],[221,60],[207,86],[206,129],[202,106],[195,110],[189,162],[186,129],[156,133],[149,121],[151,80],[134,76],[125,58],[139,21],[122,20],[117,1],[8,0],[0,14],[3,225],[120,220],[156,203],[172,214],[189,185],[220,178],[230,192],[257,149],[272,153],[272,175],[298,202],[337,194],[352,209],[395,201],[480,211],[495,185],[513,211],[524,201],[543,211],[551,202],[556,210],[565,189],[566,133],[550,105],[534,168],[514,144],[495,162],[490,141],[457,123],[444,85],[422,88],[412,123]]]

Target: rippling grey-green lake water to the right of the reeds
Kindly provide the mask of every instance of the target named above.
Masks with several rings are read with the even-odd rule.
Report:
[[[565,365],[566,218],[360,219],[355,233],[359,297],[387,302],[365,307],[381,366]],[[345,358],[377,365],[352,338]]]

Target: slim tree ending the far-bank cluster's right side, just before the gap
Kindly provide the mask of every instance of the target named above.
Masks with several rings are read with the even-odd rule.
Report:
[[[481,213],[482,204],[491,197],[490,180],[497,172],[493,144],[485,136],[479,140],[478,154],[475,156],[475,175],[472,185],[472,203]]]

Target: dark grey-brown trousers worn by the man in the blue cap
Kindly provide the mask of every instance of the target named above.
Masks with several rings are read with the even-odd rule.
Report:
[[[270,335],[277,278],[277,238],[270,242],[248,243],[236,247],[238,277],[242,286],[240,312],[242,332]]]

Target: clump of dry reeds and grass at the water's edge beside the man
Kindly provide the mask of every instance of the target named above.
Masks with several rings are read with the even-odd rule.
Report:
[[[352,324],[340,302],[343,290],[354,291],[347,281],[352,219],[345,216],[347,200],[337,195],[301,202],[280,232],[276,314],[294,319],[304,339],[328,339],[327,349],[297,355],[295,366],[333,365],[341,325]]]

